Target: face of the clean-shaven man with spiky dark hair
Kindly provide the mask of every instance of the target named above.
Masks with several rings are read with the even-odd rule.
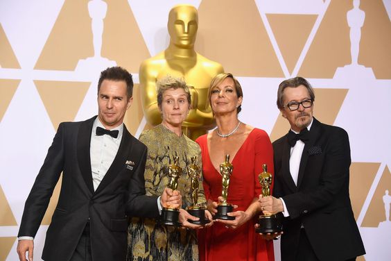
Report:
[[[116,128],[123,122],[133,97],[127,98],[125,81],[103,80],[98,92],[98,117],[107,129]]]

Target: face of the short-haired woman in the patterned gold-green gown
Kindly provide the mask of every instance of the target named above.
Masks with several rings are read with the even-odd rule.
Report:
[[[159,107],[162,124],[170,129],[181,127],[190,110],[186,92],[182,88],[170,88],[163,92],[162,98],[162,106]]]

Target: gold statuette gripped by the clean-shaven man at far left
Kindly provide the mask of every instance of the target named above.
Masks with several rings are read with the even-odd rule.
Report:
[[[176,155],[176,153],[175,153]],[[178,178],[182,173],[182,168],[179,166],[179,157],[174,157],[174,163],[168,166],[168,188],[176,190],[178,187]],[[163,208],[162,210],[162,224],[169,226],[182,226],[179,221],[178,208]]]

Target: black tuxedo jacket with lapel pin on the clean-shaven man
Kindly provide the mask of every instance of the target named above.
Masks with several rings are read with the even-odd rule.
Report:
[[[18,236],[35,237],[62,172],[44,260],[69,260],[87,221],[93,260],[125,260],[127,216],[159,216],[157,197],[145,196],[147,148],[125,126],[114,162],[94,192],[89,145],[95,118],[60,124],[26,201]]]

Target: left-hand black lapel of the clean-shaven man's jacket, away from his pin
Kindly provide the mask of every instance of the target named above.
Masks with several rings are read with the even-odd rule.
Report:
[[[91,158],[89,155],[89,147],[91,145],[91,133],[92,133],[92,125],[94,124],[94,120],[96,117],[92,119],[88,119],[87,121],[83,121],[80,125],[78,132],[78,165],[82,174],[82,178],[85,181],[89,191],[94,193],[94,185],[92,183],[92,170],[91,170]]]

